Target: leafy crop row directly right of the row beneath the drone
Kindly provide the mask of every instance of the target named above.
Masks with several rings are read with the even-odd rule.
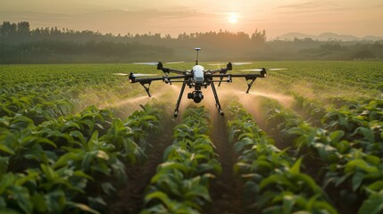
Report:
[[[238,103],[230,106],[229,140],[238,159],[234,170],[244,184],[248,210],[262,213],[337,213],[312,177],[301,173],[301,161],[280,151]]]

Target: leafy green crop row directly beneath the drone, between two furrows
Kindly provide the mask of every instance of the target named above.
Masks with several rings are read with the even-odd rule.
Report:
[[[221,172],[203,107],[187,109],[151,179],[142,213],[200,213],[211,202],[210,180]]]

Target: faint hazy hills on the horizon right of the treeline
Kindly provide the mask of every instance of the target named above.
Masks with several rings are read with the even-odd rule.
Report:
[[[366,37],[354,37],[352,35],[341,35],[336,33],[322,33],[318,36],[310,35],[310,34],[303,34],[303,33],[287,33],[280,35],[279,37],[275,37],[275,39],[279,40],[293,40],[294,38],[312,38],[313,40],[319,40],[319,41],[329,41],[329,40],[342,40],[342,41],[355,41],[355,40],[370,40],[370,41],[378,41],[383,40],[383,37],[374,37],[374,36],[366,36]]]

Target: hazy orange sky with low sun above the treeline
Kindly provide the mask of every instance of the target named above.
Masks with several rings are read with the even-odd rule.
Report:
[[[383,0],[0,0],[0,21],[101,33],[229,30],[383,36]]]

